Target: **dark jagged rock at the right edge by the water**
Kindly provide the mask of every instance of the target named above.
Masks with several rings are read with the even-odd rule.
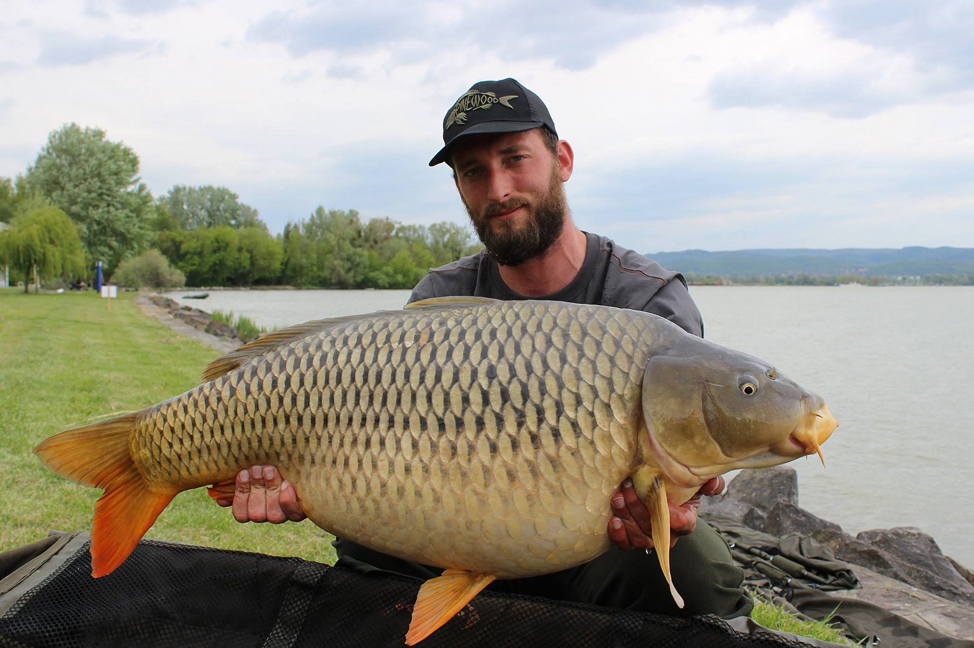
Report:
[[[974,587],[957,573],[934,539],[918,528],[900,526],[863,531],[856,535],[856,540],[884,553],[898,573],[893,578],[974,606]]]

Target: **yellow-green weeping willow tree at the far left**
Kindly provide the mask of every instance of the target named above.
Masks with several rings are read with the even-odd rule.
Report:
[[[0,232],[0,263],[31,282],[70,281],[85,274],[85,252],[78,229],[62,210],[34,200]],[[36,289],[36,287],[35,287]]]

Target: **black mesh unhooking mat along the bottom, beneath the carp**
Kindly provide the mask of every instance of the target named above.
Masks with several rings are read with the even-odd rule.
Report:
[[[0,646],[401,646],[420,582],[258,553],[142,541],[91,577],[87,534],[0,557]],[[0,574],[2,575],[2,574]],[[807,648],[712,617],[645,613],[481,592],[425,639],[438,646]]]

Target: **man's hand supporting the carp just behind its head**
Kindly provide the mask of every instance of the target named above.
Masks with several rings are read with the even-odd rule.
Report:
[[[696,508],[703,495],[719,495],[724,492],[724,477],[716,476],[700,487],[690,500],[670,510],[670,547],[680,536],[690,535],[696,528]],[[609,518],[609,538],[623,552],[634,549],[653,549],[653,523],[650,512],[636,497],[632,479],[622,481],[618,493],[612,497],[613,515]]]

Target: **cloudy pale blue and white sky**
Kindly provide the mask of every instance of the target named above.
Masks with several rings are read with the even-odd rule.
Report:
[[[153,194],[464,222],[427,166],[480,79],[541,95],[582,229],[644,252],[974,247],[968,0],[5,0],[0,175],[98,127]],[[276,8],[272,8],[276,7]]]

